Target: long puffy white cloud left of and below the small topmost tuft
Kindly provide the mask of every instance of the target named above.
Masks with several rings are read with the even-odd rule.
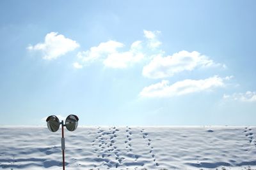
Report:
[[[118,48],[123,46],[124,44],[118,41],[107,41],[100,43],[99,46],[93,46],[86,52],[79,52],[77,57],[83,64],[100,60],[104,66],[112,68],[125,68],[143,59],[141,41],[132,43],[127,52],[118,52]]]

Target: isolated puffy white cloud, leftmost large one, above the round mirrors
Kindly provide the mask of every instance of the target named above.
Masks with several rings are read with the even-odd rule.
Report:
[[[75,50],[77,47],[79,44],[76,41],[65,38],[58,32],[50,32],[45,36],[44,43],[38,43],[35,46],[29,45],[28,50],[40,51],[44,55],[43,59],[52,60]]]

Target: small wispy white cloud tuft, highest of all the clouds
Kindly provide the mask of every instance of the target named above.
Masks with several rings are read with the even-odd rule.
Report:
[[[148,39],[148,47],[150,48],[157,48],[162,43],[161,41],[157,40],[157,35],[161,33],[161,31],[147,31],[143,30],[145,38]]]

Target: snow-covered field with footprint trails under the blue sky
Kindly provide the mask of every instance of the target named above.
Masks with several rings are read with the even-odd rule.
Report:
[[[65,129],[66,169],[256,169],[256,127]],[[0,126],[1,169],[62,169],[61,131]]]

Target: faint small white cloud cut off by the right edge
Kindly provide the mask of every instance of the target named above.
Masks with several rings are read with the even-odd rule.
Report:
[[[256,92],[247,91],[245,93],[234,93],[232,95],[224,94],[223,99],[242,102],[256,102]]]

